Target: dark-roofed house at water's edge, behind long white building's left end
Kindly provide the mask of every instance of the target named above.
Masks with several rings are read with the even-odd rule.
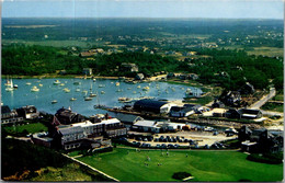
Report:
[[[61,124],[65,124],[65,125],[84,121],[84,117],[82,115],[77,114],[77,113],[72,112],[71,110],[68,110],[65,107],[59,108],[56,112],[55,116]]]

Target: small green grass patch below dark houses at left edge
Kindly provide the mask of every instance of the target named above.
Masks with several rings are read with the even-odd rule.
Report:
[[[8,133],[14,134],[16,133],[22,133],[24,129],[26,129],[29,133],[34,134],[34,133],[39,133],[39,131],[46,131],[47,127],[43,125],[42,123],[33,123],[33,124],[27,124],[27,125],[22,125],[22,126],[8,126],[4,127]]]

